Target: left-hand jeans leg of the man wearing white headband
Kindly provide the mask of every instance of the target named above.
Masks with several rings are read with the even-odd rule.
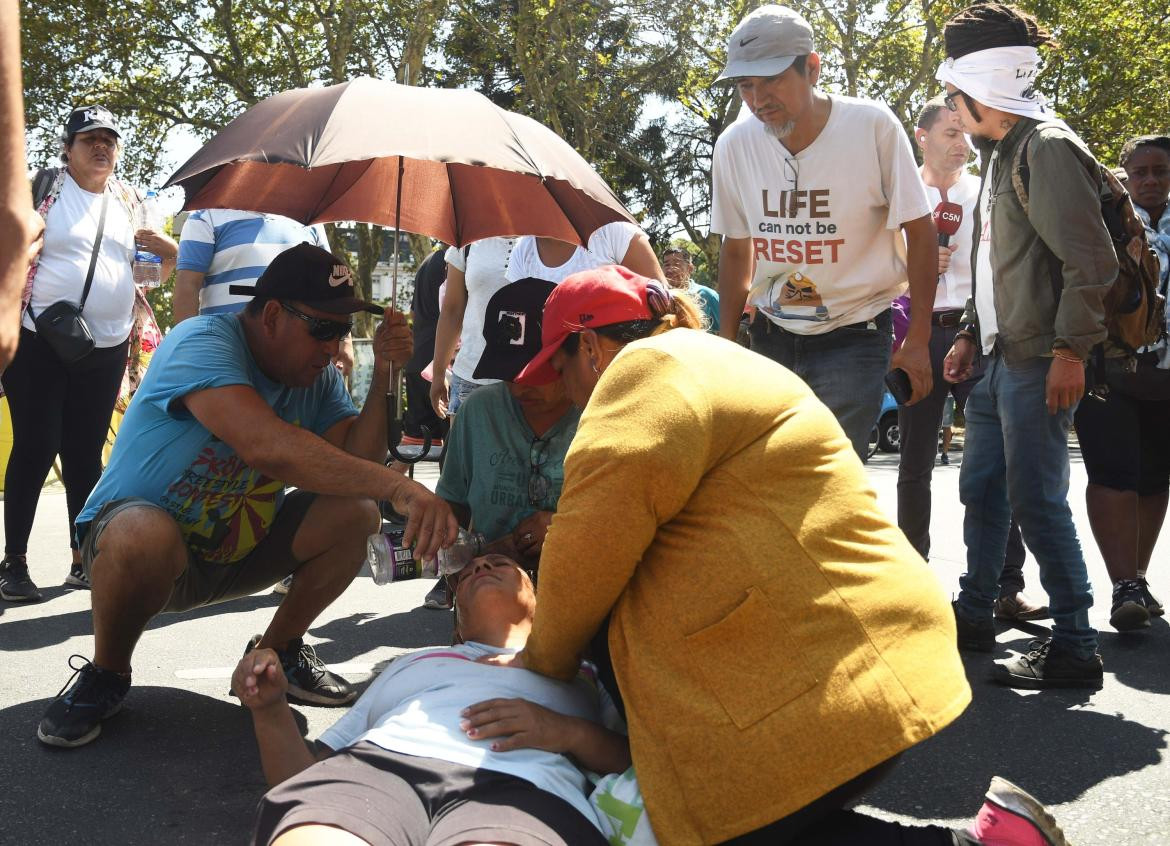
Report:
[[[996,396],[1002,370],[1002,358],[992,356],[986,374],[966,400],[963,467],[958,474],[959,500],[965,509],[966,572],[959,578],[958,604],[972,619],[991,619],[1011,522],[1004,432]]]

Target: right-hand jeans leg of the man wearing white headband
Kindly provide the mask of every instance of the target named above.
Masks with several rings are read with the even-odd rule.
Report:
[[[1075,408],[1048,413],[1049,363],[1033,358],[1003,369],[998,400],[1007,493],[1048,593],[1053,640],[1083,658],[1096,651],[1097,637],[1089,625],[1093,589],[1068,508],[1068,429]]]

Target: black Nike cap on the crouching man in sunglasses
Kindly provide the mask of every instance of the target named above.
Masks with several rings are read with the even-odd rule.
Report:
[[[355,296],[349,264],[308,241],[273,259],[255,286],[228,286],[228,291],[246,297],[296,300],[331,315],[369,311],[380,317],[384,314],[380,305]]]

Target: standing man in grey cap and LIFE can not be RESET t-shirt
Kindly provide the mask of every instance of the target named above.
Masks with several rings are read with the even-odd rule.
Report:
[[[720,80],[750,114],[720,136],[711,168],[720,323],[734,339],[744,304],[756,307],[751,348],[807,381],[865,454],[892,364],[889,303],[907,278],[922,308],[893,366],[911,401],[930,393],[938,253],[897,118],[824,94],[819,75],[812,28],[792,9],[763,6],[731,33]]]

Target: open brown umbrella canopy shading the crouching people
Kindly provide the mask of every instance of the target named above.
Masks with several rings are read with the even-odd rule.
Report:
[[[303,223],[358,220],[463,246],[494,235],[587,243],[633,221],[555,132],[469,90],[360,77],[257,103],[167,180],[184,208]]]

